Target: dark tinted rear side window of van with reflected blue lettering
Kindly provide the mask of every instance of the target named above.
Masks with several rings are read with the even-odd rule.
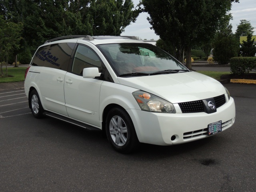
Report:
[[[67,71],[75,43],[59,43],[42,46],[34,55],[32,65]]]

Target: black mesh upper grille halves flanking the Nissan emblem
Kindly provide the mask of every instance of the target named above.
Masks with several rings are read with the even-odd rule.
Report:
[[[214,97],[216,108],[224,105],[226,103],[225,95],[220,95]],[[205,112],[203,100],[190,101],[178,103],[182,113],[200,113]]]

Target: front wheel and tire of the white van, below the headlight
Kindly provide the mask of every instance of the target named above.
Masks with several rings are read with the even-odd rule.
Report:
[[[106,135],[112,147],[127,154],[138,148],[137,138],[132,119],[122,108],[112,108],[106,118]]]

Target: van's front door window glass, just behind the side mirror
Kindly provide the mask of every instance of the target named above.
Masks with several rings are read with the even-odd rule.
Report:
[[[71,72],[82,75],[83,69],[89,67],[98,67],[101,72],[103,65],[94,51],[86,46],[78,45]]]

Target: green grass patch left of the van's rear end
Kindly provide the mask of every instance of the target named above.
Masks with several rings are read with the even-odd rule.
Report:
[[[8,67],[7,75],[12,77],[0,77],[0,83],[20,82],[24,81],[26,67]],[[6,73],[6,68],[3,66],[3,72]]]

